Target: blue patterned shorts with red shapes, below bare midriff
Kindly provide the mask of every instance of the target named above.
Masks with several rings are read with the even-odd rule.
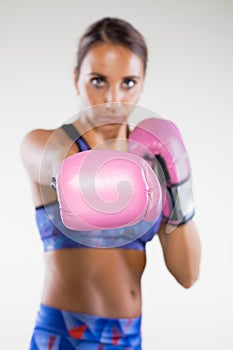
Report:
[[[141,317],[105,318],[41,304],[30,350],[141,350]]]

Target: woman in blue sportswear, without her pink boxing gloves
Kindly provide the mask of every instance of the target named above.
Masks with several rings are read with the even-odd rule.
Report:
[[[96,248],[63,234],[56,191],[50,186],[63,159],[78,152],[128,151],[127,121],[140,97],[146,65],[144,39],[129,23],[104,18],[92,24],[80,40],[74,69],[79,118],[55,130],[34,130],[23,140],[46,260],[30,349],[141,349],[145,243],[157,232],[177,281],[189,288],[198,277],[200,244],[191,217],[169,235],[166,223],[157,220],[145,239]]]

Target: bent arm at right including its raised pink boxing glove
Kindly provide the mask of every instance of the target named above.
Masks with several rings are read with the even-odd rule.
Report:
[[[199,275],[200,241],[192,221],[191,166],[182,136],[171,121],[148,118],[134,128],[129,140],[129,150],[148,160],[160,180],[164,223],[159,237],[165,262],[188,288]]]

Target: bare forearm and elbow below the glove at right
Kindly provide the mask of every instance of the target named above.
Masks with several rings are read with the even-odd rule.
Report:
[[[189,288],[199,276],[201,245],[193,220],[178,226],[169,234],[166,224],[161,225],[159,238],[166,266],[176,280]]]

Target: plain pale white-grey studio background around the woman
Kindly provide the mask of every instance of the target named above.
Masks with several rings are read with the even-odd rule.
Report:
[[[158,239],[148,244],[144,349],[232,350],[230,0],[1,2],[0,348],[27,349],[44,272],[20,143],[29,130],[54,128],[78,111],[76,46],[87,25],[104,16],[129,20],[146,38],[149,67],[140,105],[172,119],[183,134],[202,241],[200,278],[188,290],[166,270]]]

